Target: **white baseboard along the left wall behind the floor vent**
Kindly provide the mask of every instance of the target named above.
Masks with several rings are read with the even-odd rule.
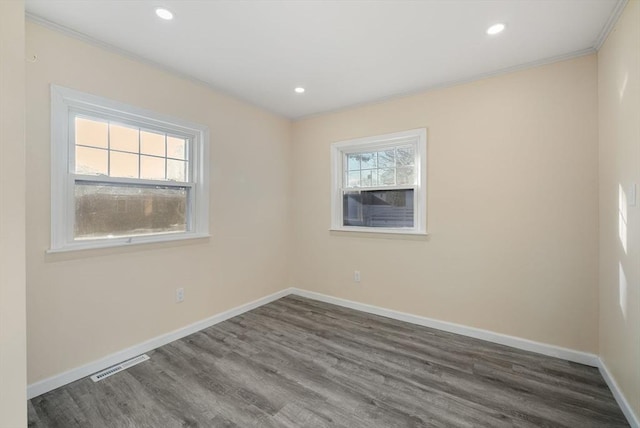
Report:
[[[83,377],[89,376],[95,372],[104,370],[108,367],[111,367],[115,364],[118,364],[130,358],[136,357],[140,354],[144,354],[145,352],[149,352],[160,346],[166,345],[167,343],[171,343],[174,340],[181,339],[197,331],[200,331],[207,327],[211,327],[212,325],[218,324],[222,321],[226,321],[229,318],[233,318],[235,316],[248,312],[259,306],[266,305],[267,303],[271,303],[274,300],[278,300],[281,297],[287,296],[289,294],[291,294],[291,289],[287,288],[284,290],[280,290],[276,293],[254,300],[253,302],[236,306],[235,308],[229,309],[228,311],[221,312],[210,318],[204,319],[202,321],[198,321],[196,323],[190,324],[186,327],[179,328],[172,332],[157,336],[153,339],[149,339],[145,342],[142,342],[138,345],[134,345],[130,348],[115,352],[111,355],[100,358],[99,360],[85,364],[81,367],[77,367],[69,371],[66,371],[64,373],[60,373],[60,374],[51,376],[49,378],[43,379],[41,381],[32,383],[27,387],[27,399],[30,400],[31,398],[37,397],[38,395],[44,394],[45,392],[52,391],[68,383],[75,382],[76,380],[82,379]]]

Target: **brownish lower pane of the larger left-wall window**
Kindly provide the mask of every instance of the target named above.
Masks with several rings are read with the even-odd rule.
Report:
[[[184,187],[80,183],[75,186],[75,239],[187,231]]]

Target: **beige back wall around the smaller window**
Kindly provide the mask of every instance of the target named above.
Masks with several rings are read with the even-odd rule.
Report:
[[[296,122],[291,285],[597,352],[596,71],[590,55]],[[330,233],[330,144],[417,127],[429,238]]]

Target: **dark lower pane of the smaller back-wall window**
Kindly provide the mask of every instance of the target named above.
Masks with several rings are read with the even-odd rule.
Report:
[[[343,225],[413,227],[413,189],[346,191]]]

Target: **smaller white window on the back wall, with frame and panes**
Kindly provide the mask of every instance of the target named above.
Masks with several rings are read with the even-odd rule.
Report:
[[[427,130],[331,146],[332,230],[426,234]]]

